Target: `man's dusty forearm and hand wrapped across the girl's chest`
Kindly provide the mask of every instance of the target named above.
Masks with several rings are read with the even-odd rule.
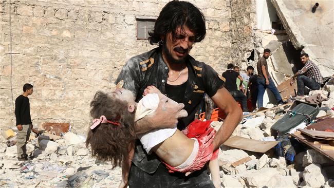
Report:
[[[160,99],[158,108],[153,114],[145,116],[143,119],[135,123],[136,134],[143,134],[155,128],[174,128],[179,118],[183,118],[183,113],[180,113],[184,104],[168,103],[168,98]]]

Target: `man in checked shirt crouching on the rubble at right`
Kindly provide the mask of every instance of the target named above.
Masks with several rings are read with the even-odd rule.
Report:
[[[300,58],[304,67],[292,76],[291,83],[294,82],[294,78],[297,78],[297,95],[304,97],[305,86],[311,90],[318,90],[323,84],[323,78],[319,68],[316,64],[310,61],[307,53],[302,53]]]

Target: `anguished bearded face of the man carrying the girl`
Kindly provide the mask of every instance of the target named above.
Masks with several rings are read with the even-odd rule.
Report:
[[[187,26],[183,26],[183,31],[179,27],[176,36],[172,32],[168,33],[163,45],[163,55],[168,63],[183,63],[187,58],[190,49],[195,42],[195,34]]]

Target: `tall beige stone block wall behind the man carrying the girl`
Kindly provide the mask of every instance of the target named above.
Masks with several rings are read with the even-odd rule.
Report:
[[[242,6],[237,2],[232,1],[232,7]],[[240,20],[240,24],[250,23],[251,16],[238,15],[240,11],[251,12],[250,9],[232,11],[233,16],[239,17],[230,24],[229,1],[192,3],[207,18],[207,36],[194,45],[194,58],[219,73],[233,59],[244,61],[246,53],[238,51],[249,49],[242,44],[249,42],[246,38],[252,29],[245,27],[243,34],[243,26],[233,24]],[[136,40],[135,17],[157,17],[165,4],[2,0],[0,128],[15,125],[14,100],[22,94],[23,84],[31,83],[34,93],[29,99],[34,126],[42,122],[70,123],[83,133],[90,121],[89,102],[94,93],[112,89],[127,59],[154,48],[145,40]],[[238,33],[232,35],[231,30]],[[239,39],[241,34],[243,38]],[[238,39],[233,40],[233,36]]]

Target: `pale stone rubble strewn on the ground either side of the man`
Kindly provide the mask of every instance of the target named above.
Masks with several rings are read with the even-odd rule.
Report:
[[[318,120],[334,114],[334,79],[301,101],[320,106]],[[316,96],[316,97],[312,97]],[[245,116],[219,149],[222,187],[332,187],[334,161],[291,135],[277,135],[272,126],[287,114],[272,104],[264,112]],[[274,108],[274,109],[273,109]],[[211,125],[218,130],[222,122]],[[304,128],[308,125],[301,124]],[[13,128],[15,130],[15,128]],[[60,136],[46,131],[27,144],[28,161],[18,161],[15,131],[3,131],[0,142],[2,187],[118,187],[121,168],[91,157],[85,136],[68,131]],[[294,140],[294,141],[293,141]],[[334,142],[334,141],[333,141]],[[255,144],[251,144],[255,143]]]

